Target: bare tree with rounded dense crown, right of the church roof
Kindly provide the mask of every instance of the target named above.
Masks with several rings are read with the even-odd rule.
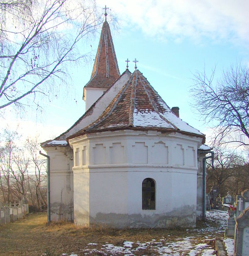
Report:
[[[211,122],[215,129],[213,141],[236,145],[249,145],[249,69],[237,65],[224,71],[215,83],[215,70],[210,77],[206,73],[195,74],[191,89],[200,119]]]

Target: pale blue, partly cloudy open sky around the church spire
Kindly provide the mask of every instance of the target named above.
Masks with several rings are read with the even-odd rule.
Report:
[[[107,5],[118,29],[110,27],[120,73],[137,67],[169,107],[179,107],[180,117],[207,135],[210,129],[191,108],[190,88],[196,72],[217,78],[231,65],[249,65],[249,1],[246,0],[96,0],[100,10]],[[104,10],[103,10],[104,13]],[[104,21],[104,15],[103,15]],[[27,136],[40,134],[41,141],[53,139],[85,112],[83,87],[90,80],[101,30],[86,47],[92,49],[87,65],[72,68],[72,87],[60,88],[59,97],[44,101],[42,112],[15,115],[10,109],[0,117],[0,131],[16,129]]]

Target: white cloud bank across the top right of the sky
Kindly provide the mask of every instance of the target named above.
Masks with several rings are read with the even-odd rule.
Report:
[[[97,3],[101,7],[106,1]],[[247,0],[109,0],[107,5],[122,26],[136,26],[151,36],[249,41]]]

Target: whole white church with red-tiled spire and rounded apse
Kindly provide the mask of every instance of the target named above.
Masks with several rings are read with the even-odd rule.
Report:
[[[168,107],[136,63],[120,75],[106,20],[83,100],[85,114],[41,144],[50,158],[51,220],[195,226],[205,205],[205,135]]]

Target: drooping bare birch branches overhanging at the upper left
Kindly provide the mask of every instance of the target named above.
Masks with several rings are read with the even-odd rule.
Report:
[[[0,0],[0,109],[39,107],[55,80],[66,84],[67,65],[86,56],[78,45],[100,25],[96,13],[94,0]]]

